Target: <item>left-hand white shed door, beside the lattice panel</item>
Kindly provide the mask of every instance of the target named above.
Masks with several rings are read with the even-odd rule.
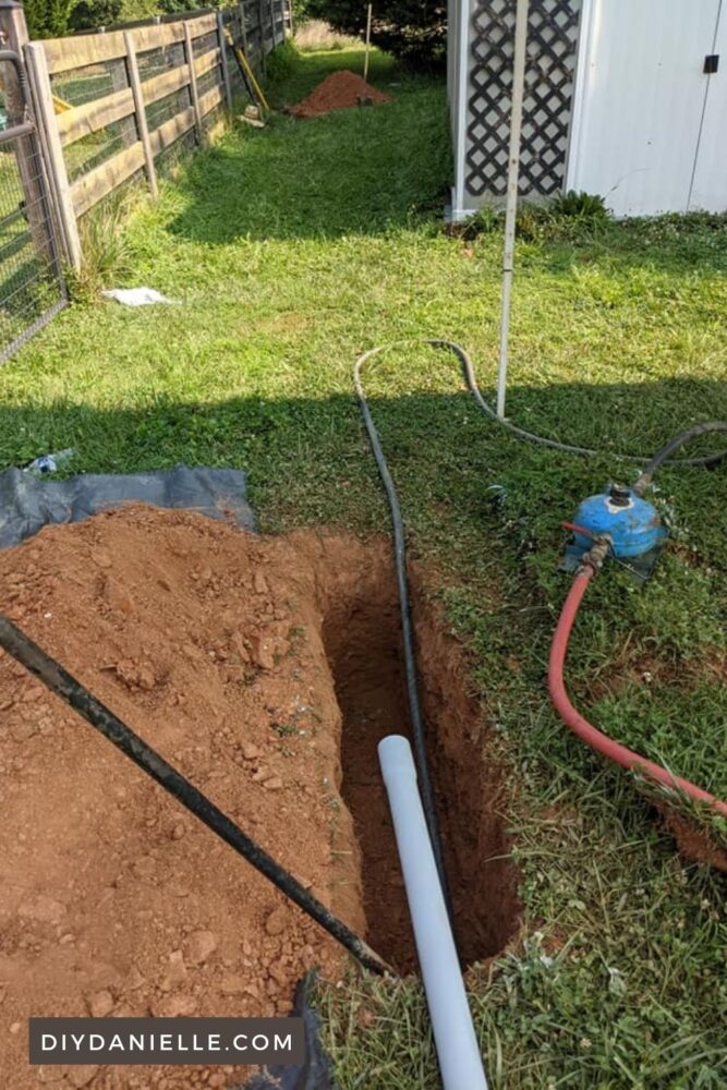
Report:
[[[617,216],[688,209],[719,8],[585,0],[568,189],[599,193]]]

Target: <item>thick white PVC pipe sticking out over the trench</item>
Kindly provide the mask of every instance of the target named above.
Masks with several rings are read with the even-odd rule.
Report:
[[[400,735],[389,735],[378,743],[378,760],[391,808],[441,1081],[445,1090],[487,1090],[411,746]]]

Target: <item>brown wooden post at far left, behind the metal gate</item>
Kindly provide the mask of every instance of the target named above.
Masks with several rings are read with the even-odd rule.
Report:
[[[23,63],[23,48],[28,40],[27,26],[25,12],[20,3],[15,3],[15,0],[0,0],[0,36],[3,48],[12,49]],[[21,124],[25,121],[26,110],[31,113],[33,111],[32,104],[25,101],[25,95],[13,64],[5,65],[4,92],[8,124]],[[50,232],[53,225],[50,221],[47,222],[49,209],[43,189],[41,171],[44,165],[39,141],[33,136],[13,141],[13,150],[23,186],[25,214],[33,242],[40,256],[52,262],[54,255]]]

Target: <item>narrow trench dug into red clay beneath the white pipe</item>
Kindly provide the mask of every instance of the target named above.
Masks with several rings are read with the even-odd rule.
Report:
[[[360,560],[360,558],[359,558]],[[412,605],[427,752],[437,798],[455,931],[463,967],[500,953],[519,928],[502,775],[487,756],[483,712],[468,693],[461,645],[414,574]],[[411,738],[393,569],[380,554],[339,572],[324,606],[324,644],[342,715],[341,794],[362,857],[366,940],[398,971],[416,953],[376,747]]]

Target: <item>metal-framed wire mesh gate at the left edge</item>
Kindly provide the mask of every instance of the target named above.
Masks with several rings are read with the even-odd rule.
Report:
[[[43,146],[17,53],[0,49],[0,363],[66,303]]]

